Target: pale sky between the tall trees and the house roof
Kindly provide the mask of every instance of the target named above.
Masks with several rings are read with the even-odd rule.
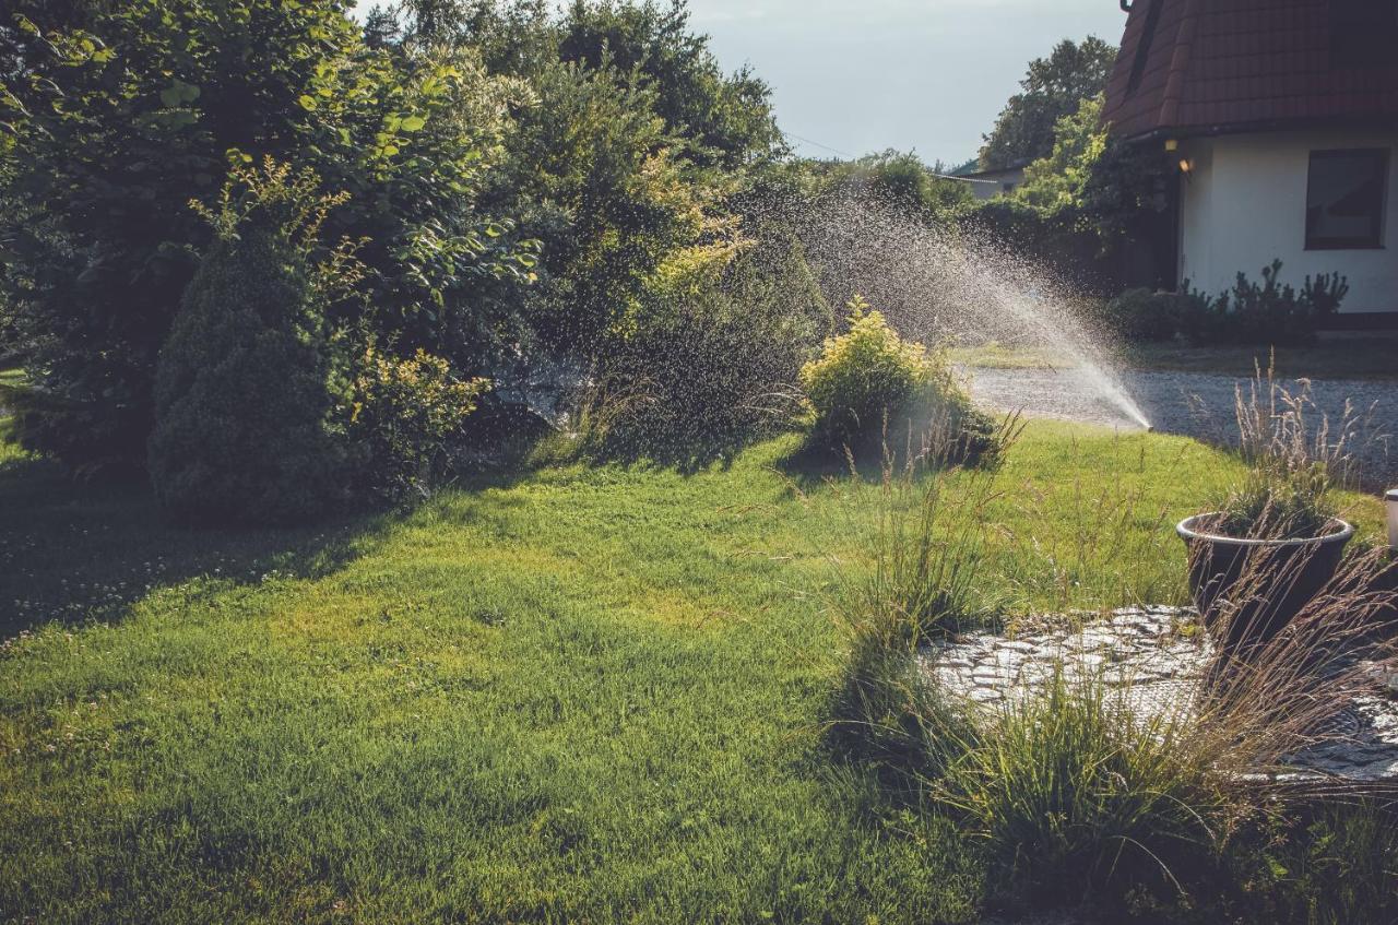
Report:
[[[359,0],[361,7],[370,6]],[[916,151],[960,163],[1064,38],[1121,41],[1117,0],[691,0],[726,70],[773,89],[800,154]]]

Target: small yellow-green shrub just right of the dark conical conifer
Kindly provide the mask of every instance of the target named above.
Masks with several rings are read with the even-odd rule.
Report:
[[[387,499],[424,492],[488,388],[489,380],[457,379],[450,363],[421,349],[398,359],[365,348],[350,405],[356,486]]]

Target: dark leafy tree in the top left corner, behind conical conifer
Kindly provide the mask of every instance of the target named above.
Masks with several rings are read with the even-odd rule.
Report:
[[[338,3],[32,4],[7,22],[15,159],[4,284],[38,334],[42,411],[21,437],[88,469],[138,468],[155,359],[210,242],[189,210],[226,151],[299,144],[317,68],[352,50]],[[217,10],[217,11],[215,11]]]

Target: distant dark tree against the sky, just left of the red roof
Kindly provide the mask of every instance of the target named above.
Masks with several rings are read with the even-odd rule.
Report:
[[[981,169],[1004,169],[1053,152],[1054,126],[1079,103],[1106,91],[1117,50],[1089,35],[1081,43],[1064,39],[1048,57],[1029,63],[1029,73],[984,136]]]

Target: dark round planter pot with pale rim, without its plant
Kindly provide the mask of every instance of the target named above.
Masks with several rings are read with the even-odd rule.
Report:
[[[1335,577],[1355,528],[1332,517],[1314,538],[1239,539],[1212,532],[1218,518],[1218,513],[1197,514],[1176,531],[1190,551],[1190,591],[1204,625],[1226,653],[1246,657],[1282,632]],[[1240,583],[1250,571],[1257,574]],[[1229,611],[1227,626],[1220,626]]]

